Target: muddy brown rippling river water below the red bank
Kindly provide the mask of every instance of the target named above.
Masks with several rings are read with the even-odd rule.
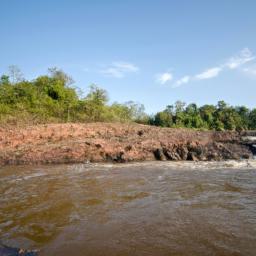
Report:
[[[0,241],[39,255],[256,255],[256,163],[0,169]]]

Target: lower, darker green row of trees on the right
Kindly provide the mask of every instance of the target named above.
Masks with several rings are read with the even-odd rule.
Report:
[[[192,103],[177,101],[164,111],[156,113],[149,123],[163,127],[187,127],[207,130],[247,130],[256,129],[256,109],[245,106],[229,106],[219,101],[217,106],[198,107]]]

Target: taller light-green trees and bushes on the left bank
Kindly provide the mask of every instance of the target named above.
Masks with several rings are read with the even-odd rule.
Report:
[[[0,123],[143,122],[143,105],[135,102],[108,104],[107,92],[96,85],[83,97],[63,71],[33,81],[22,78],[16,67],[0,78]]]

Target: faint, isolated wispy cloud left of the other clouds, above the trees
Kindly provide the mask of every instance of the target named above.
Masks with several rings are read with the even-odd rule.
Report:
[[[138,71],[139,71],[139,68],[134,64],[120,61],[120,62],[113,62],[112,65],[101,70],[100,72],[114,78],[123,78],[128,73],[135,73]]]

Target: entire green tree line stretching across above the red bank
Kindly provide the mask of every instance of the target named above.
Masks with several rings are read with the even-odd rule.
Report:
[[[16,66],[0,78],[0,123],[49,122],[138,122],[162,127],[207,130],[256,129],[256,108],[217,105],[186,105],[177,101],[153,115],[140,103],[109,104],[108,94],[96,85],[87,95],[76,88],[73,79],[58,68],[28,81]]]

